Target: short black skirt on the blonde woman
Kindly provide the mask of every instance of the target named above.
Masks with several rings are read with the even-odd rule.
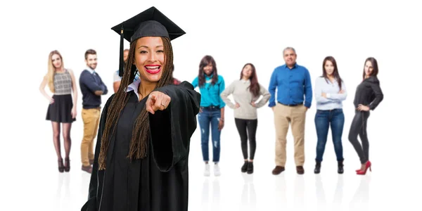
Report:
[[[53,95],[54,103],[49,105],[47,110],[46,120],[52,122],[65,122],[71,123],[76,121],[76,118],[72,119],[72,95]]]

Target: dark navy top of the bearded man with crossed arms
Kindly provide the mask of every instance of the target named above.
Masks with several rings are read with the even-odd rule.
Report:
[[[79,76],[79,87],[82,92],[82,108],[98,108],[101,106],[101,96],[95,91],[103,91],[103,95],[108,93],[106,84],[103,83],[98,73],[91,73],[88,70],[81,72]]]

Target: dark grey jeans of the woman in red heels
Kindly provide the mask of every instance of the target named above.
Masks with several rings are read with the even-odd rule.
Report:
[[[350,125],[349,141],[359,155],[362,164],[369,160],[369,141],[366,134],[366,122],[368,122],[369,111],[355,110],[352,124]],[[359,135],[362,145],[357,140]]]

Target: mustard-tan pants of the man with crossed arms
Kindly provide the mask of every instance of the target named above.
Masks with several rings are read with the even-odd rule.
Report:
[[[96,138],[101,108],[82,109],[84,121],[84,138],[81,143],[82,165],[89,166],[89,160],[94,160],[94,139]]]

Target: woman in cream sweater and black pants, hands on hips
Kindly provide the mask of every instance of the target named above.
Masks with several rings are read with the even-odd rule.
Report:
[[[233,95],[236,104],[230,101],[229,95]],[[261,96],[262,99],[256,103]],[[270,96],[269,91],[258,83],[255,66],[251,63],[243,66],[241,78],[231,83],[221,94],[224,103],[234,109],[234,122],[241,136],[241,147],[245,160],[241,172],[253,173],[253,159],[257,146],[255,139],[258,126],[257,108],[264,106]]]

